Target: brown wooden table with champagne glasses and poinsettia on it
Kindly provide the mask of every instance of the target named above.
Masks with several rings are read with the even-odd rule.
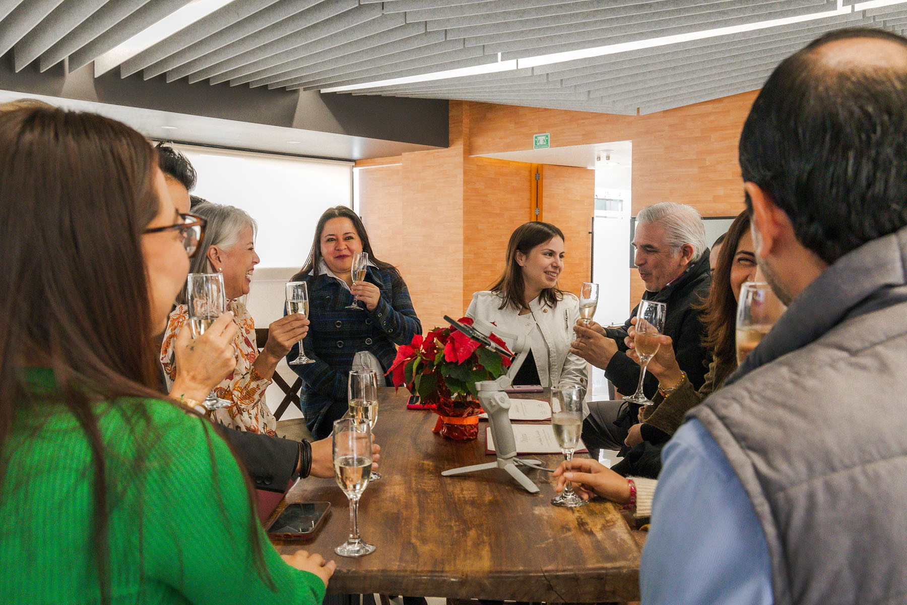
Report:
[[[327,501],[332,514],[313,542],[278,542],[333,559],[328,592],[548,602],[639,600],[639,546],[616,504],[552,506],[550,473],[526,469],[541,493],[522,490],[500,469],[442,477],[445,469],[493,460],[479,439],[432,433],[434,413],[407,410],[403,389],[381,388],[375,439],[379,481],[359,505],[359,528],[375,552],[338,557],[346,540],[346,496],[333,479],[308,478],[287,501]],[[532,395],[528,395],[532,396]],[[536,395],[538,396],[538,395]],[[541,396],[540,396],[541,398]],[[530,457],[530,456],[524,456]],[[533,455],[553,468],[560,455]]]

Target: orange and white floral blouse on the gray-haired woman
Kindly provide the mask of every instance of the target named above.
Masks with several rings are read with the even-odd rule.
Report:
[[[233,339],[233,344],[236,346],[236,368],[223,382],[214,387],[214,394],[221,399],[233,402],[233,405],[213,410],[208,415],[211,420],[227,424],[240,431],[276,435],[274,429],[277,428],[278,423],[265,401],[265,391],[271,381],[258,376],[258,372],[252,366],[258,356],[255,322],[249,315],[249,310],[238,300],[229,300],[227,308],[233,312],[233,320],[239,326],[239,331]],[[176,335],[180,333],[180,329],[186,324],[188,318],[187,307],[178,305],[171,312],[167,322],[167,331],[164,332],[161,365],[164,368],[164,375],[167,376],[168,387],[176,378],[173,344]]]

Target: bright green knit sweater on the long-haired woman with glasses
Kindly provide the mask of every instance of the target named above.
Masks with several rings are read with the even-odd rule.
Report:
[[[105,444],[112,603],[320,603],[255,523],[239,466],[206,421],[161,401],[96,406]],[[20,410],[0,458],[0,600],[97,603],[91,450],[72,415]]]

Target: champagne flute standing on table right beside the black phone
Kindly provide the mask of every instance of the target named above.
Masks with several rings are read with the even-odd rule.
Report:
[[[375,546],[359,537],[359,497],[366,490],[372,470],[372,429],[356,418],[334,423],[334,478],[349,498],[349,538],[334,551],[341,557],[361,557]]]

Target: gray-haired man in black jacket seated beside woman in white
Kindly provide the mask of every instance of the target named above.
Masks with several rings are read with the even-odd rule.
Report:
[[[668,306],[664,334],[671,337],[674,355],[680,369],[687,373],[690,383],[699,388],[705,380],[709,354],[702,346],[704,327],[695,305],[708,296],[711,286],[706,229],[702,217],[691,206],[664,201],[639,212],[633,236],[635,263],[639,277],[646,285],[643,300],[663,302]],[[630,318],[636,317],[639,307]],[[639,383],[639,365],[626,352],[624,338],[628,335],[629,319],[623,327],[610,328],[591,324],[576,326],[577,340],[571,352],[605,370],[605,376],[625,395],[632,394]],[[649,398],[658,390],[658,379],[646,376],[643,390]],[[623,402],[591,402],[590,415],[583,425],[583,441],[590,448],[621,450],[627,446],[663,444],[670,435],[652,425],[637,423],[637,405]],[[615,424],[615,422],[617,424]],[[660,451],[660,447],[658,448]],[[660,462],[658,451],[630,458],[621,464],[643,476],[656,476]]]

